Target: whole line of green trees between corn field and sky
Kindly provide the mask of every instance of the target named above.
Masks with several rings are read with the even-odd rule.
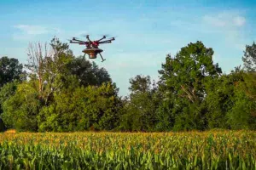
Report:
[[[26,65],[0,59],[0,130],[164,132],[256,129],[256,44],[224,74],[202,42],[166,55],[160,81],[137,75],[119,97],[108,71],[67,43],[30,44]]]

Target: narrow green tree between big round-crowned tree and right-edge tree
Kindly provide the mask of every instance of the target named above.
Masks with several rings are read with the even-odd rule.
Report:
[[[207,83],[207,122],[208,128],[230,128],[227,113],[234,106],[236,84],[243,81],[240,68],[228,75],[212,79]]]

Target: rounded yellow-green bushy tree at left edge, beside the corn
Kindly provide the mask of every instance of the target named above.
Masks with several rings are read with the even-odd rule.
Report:
[[[33,84],[22,82],[17,86],[15,95],[4,101],[2,118],[6,127],[18,131],[38,131],[37,115],[41,105]]]

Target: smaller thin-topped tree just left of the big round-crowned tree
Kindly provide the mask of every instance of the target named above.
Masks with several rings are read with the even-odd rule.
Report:
[[[120,129],[129,131],[154,131],[156,124],[155,111],[158,106],[156,97],[157,87],[150,77],[137,77],[130,79],[130,98],[126,100]]]

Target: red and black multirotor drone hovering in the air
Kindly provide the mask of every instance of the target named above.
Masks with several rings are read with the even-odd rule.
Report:
[[[102,43],[111,43],[113,40],[115,40],[114,37],[112,37],[108,40],[104,40],[106,38],[106,36],[103,36],[101,39],[96,40],[96,41],[91,41],[89,38],[89,35],[87,35],[86,38],[88,41],[84,42],[84,41],[79,40],[76,37],[73,37],[73,39],[69,40],[69,42],[70,43],[78,43],[79,45],[85,45],[86,48],[82,51],[84,53],[84,57],[85,57],[85,54],[88,54],[90,59],[96,59],[97,54],[100,54],[101,58],[102,58],[102,62],[104,60],[106,60],[106,59],[103,59],[102,54],[101,54],[103,50],[98,47]],[[104,40],[104,41],[102,41],[102,40]]]

